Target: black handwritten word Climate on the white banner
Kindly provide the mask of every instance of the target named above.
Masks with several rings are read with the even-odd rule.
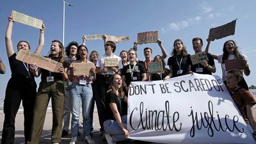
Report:
[[[138,116],[136,112],[140,113],[140,122],[132,123],[132,115]],[[170,116],[172,115],[172,116]],[[170,118],[172,118],[170,120]],[[131,111],[131,115],[129,117],[129,122],[131,128],[136,131],[139,127],[143,130],[152,130],[152,131],[173,131],[179,132],[182,124],[178,123],[179,113],[175,111],[173,114],[170,113],[170,104],[169,101],[165,102],[165,110],[149,110],[144,108],[143,102],[140,102],[140,108],[134,108]]]

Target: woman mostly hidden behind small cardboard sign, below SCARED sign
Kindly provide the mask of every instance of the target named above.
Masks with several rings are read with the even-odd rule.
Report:
[[[163,80],[164,77],[168,76],[168,74],[170,73],[170,70],[168,68],[165,68],[165,62],[164,60],[161,58],[160,55],[155,56],[154,61],[162,61],[162,65],[163,65],[163,73],[156,73],[156,74],[151,74],[151,80],[152,81],[157,81],[157,80]]]

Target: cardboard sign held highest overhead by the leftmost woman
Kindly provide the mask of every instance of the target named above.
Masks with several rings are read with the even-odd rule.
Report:
[[[13,15],[13,20],[15,22],[20,22],[28,26],[33,26],[35,28],[42,29],[43,20],[30,17],[29,15],[16,12],[15,10],[12,11],[12,15]]]

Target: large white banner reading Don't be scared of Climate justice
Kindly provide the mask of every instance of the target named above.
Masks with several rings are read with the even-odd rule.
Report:
[[[256,143],[218,76],[132,82],[129,138],[156,143]]]

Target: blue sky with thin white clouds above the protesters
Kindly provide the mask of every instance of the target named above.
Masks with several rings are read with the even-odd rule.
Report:
[[[222,54],[223,44],[227,40],[235,40],[239,51],[249,59],[251,74],[244,76],[248,85],[256,84],[256,49],[253,45],[256,38],[256,1],[248,0],[216,0],[216,1],[171,1],[171,0],[67,0],[73,6],[65,5],[65,46],[68,42],[82,43],[83,35],[106,34],[114,36],[130,36],[130,40],[116,45],[115,54],[129,50],[137,38],[137,34],[145,31],[159,31],[159,38],[170,57],[173,42],[183,40],[189,54],[194,54],[191,40],[201,37],[204,48],[209,29],[227,24],[234,19],[236,33],[232,36],[214,40],[211,43],[212,54]],[[15,10],[31,17],[41,19],[45,23],[45,46],[42,56],[49,52],[51,41],[62,41],[63,1],[62,0],[8,0],[0,4],[0,57],[6,65],[6,74],[0,75],[0,98],[4,97],[6,84],[11,77],[10,66],[6,55],[4,35],[8,24],[8,15]],[[13,25],[12,41],[17,45],[20,40],[26,40],[34,52],[39,39],[39,29],[15,22]],[[103,40],[88,40],[86,43],[89,53],[93,50],[104,54]],[[138,45],[138,58],[144,60],[143,49],[152,47],[152,58],[161,54],[157,44]],[[17,51],[16,47],[14,47]],[[222,76],[220,64],[215,61],[216,73]],[[40,77],[36,78],[40,83]]]

